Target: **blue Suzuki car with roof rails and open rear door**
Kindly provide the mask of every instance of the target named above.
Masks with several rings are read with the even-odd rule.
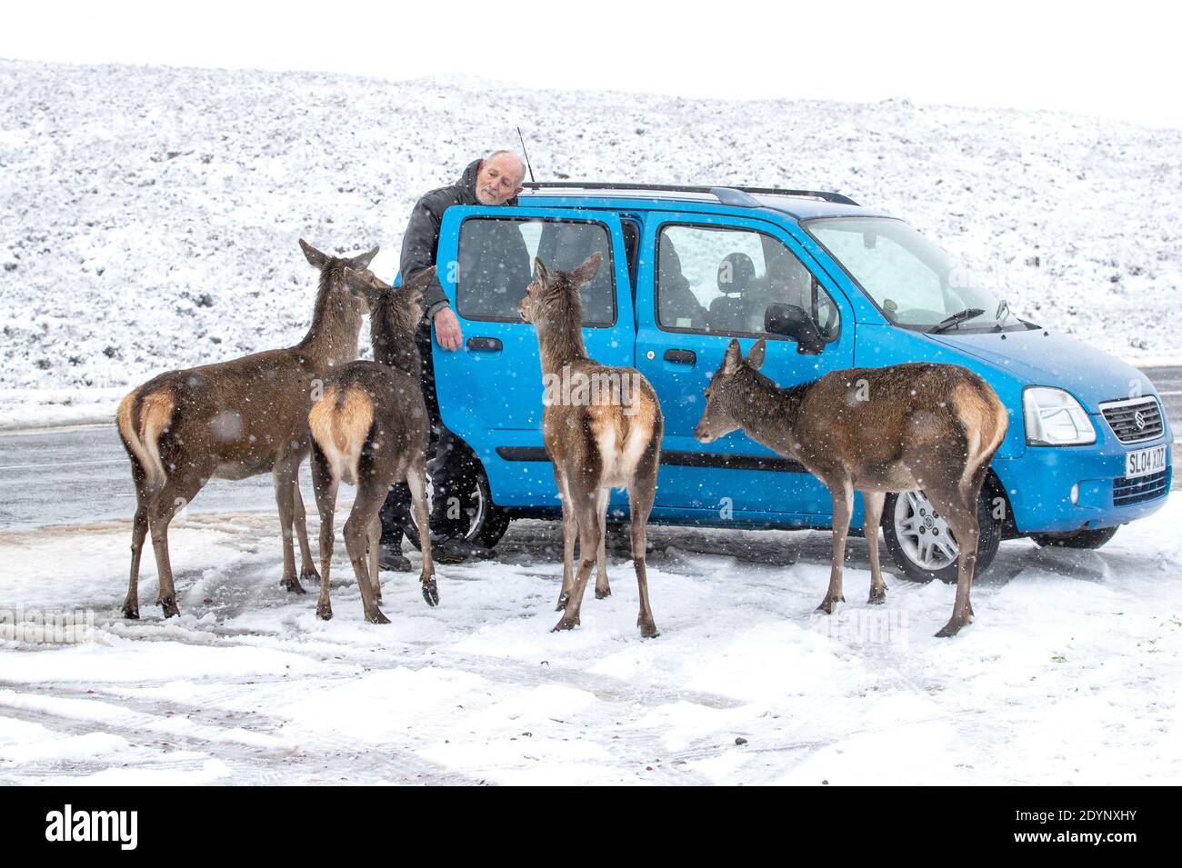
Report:
[[[524,244],[506,244],[507,231]],[[593,252],[604,265],[583,287],[587,352],[638,368],[664,411],[652,522],[830,527],[829,492],[799,464],[739,431],[694,439],[732,338],[743,352],[767,338],[762,371],[780,386],[916,360],[983,377],[1011,418],[982,489],[979,572],[1002,539],[1096,548],[1165,502],[1173,438],[1148,378],[1019,319],[903,221],[832,192],[538,183],[515,207],[443,216],[439,274],[465,345],[434,352],[435,383],[452,455],[468,468],[443,534],[491,547],[514,517],[560,516],[537,338],[517,304],[534,255],[569,269]],[[804,315],[784,316],[790,307]],[[807,334],[784,325],[805,319]],[[626,514],[613,492],[609,520]],[[955,541],[931,533],[940,523],[922,492],[888,500],[884,536],[908,577],[955,577]]]

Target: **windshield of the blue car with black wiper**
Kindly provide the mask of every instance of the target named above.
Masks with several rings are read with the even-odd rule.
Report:
[[[805,228],[901,326],[923,329],[996,327],[1005,304],[973,272],[901,220],[839,217]],[[1017,320],[1009,319],[1018,325]]]

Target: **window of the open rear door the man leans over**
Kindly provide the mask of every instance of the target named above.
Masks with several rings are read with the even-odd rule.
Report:
[[[469,217],[460,226],[456,307],[469,320],[520,322],[517,306],[533,280],[533,259],[570,270],[592,253],[599,272],[583,285],[583,325],[616,321],[611,240],[603,223],[569,220]]]

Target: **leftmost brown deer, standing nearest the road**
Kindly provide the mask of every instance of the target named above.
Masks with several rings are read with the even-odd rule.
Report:
[[[377,248],[337,259],[303,240],[299,243],[320,272],[312,325],[304,340],[286,350],[162,373],[119,404],[119,437],[136,485],[131,579],[123,603],[126,618],[139,616],[139,555],[149,530],[160,574],[156,602],[165,618],[180,613],[168,559],[168,526],[212,477],[242,479],[271,472],[284,540],[281,583],[303,594],[300,577],[319,577],[299,491],[299,465],[309,451],[307,410],[313,385],[332,367],[357,358],[364,302],[345,287],[345,268],[365,268]],[[299,577],[293,524],[299,536]]]

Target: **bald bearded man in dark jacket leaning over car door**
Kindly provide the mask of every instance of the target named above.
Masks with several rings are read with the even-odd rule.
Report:
[[[410,213],[410,222],[402,239],[400,270],[403,281],[435,265],[443,211],[452,205],[515,205],[525,171],[525,163],[512,151],[494,151],[483,159],[469,163],[456,183],[431,190],[420,198]],[[522,256],[525,255],[522,247]],[[463,332],[439,279],[423,291],[423,308],[427,315],[418,331],[418,352],[422,357],[423,398],[431,417],[435,453],[440,458],[431,463],[436,492],[434,500],[439,503],[444,501],[439,494],[448,490],[449,478],[454,478],[462,468],[449,465],[446,461],[452,449],[452,437],[440,420],[435,397],[431,326],[435,342],[449,352],[455,352],[463,345]],[[382,508],[382,546],[378,559],[382,569],[410,570],[410,561],[402,554],[403,527],[409,518],[409,504],[410,491],[404,483],[390,489]],[[455,563],[465,557],[487,556],[488,550],[460,540],[443,540],[436,543],[434,554],[444,563]]]

